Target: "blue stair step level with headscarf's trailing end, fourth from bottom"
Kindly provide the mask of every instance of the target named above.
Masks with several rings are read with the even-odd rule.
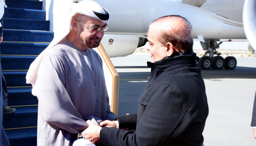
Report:
[[[31,87],[26,84],[27,71],[3,71],[7,87]]]

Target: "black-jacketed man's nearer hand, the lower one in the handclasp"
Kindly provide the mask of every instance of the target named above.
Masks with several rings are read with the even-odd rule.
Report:
[[[86,123],[89,125],[84,131],[84,138],[88,139],[91,143],[98,143],[101,141],[99,138],[99,132],[101,131],[101,126],[94,124],[91,120],[87,120]]]

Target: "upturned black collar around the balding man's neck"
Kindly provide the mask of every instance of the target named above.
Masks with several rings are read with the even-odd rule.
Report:
[[[160,61],[147,62],[147,66],[155,70],[170,70],[183,67],[196,67],[196,53],[188,54],[174,53]]]

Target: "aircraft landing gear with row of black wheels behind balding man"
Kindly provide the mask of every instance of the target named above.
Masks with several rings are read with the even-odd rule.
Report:
[[[203,57],[196,57],[197,65],[203,69],[234,69],[236,68],[237,61],[235,57],[228,56],[225,59],[221,57],[221,52],[216,51],[222,42],[217,43],[217,39],[205,39],[205,42],[200,42],[203,50],[206,50]],[[207,54],[209,56],[207,56]],[[214,56],[216,55],[216,56]]]

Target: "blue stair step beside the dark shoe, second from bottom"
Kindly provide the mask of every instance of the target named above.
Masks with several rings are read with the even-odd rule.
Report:
[[[38,106],[15,107],[16,111],[12,114],[3,114],[3,127],[20,128],[37,126]]]

